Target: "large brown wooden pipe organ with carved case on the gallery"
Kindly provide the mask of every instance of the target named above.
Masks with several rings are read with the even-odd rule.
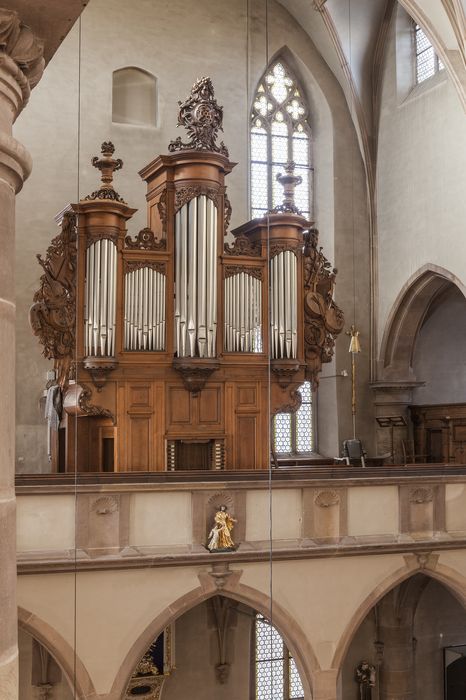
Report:
[[[331,359],[336,270],[294,205],[293,164],[283,205],[225,243],[235,164],[216,142],[222,117],[198,80],[179,107],[190,140],[140,172],[148,225],[134,237],[113,186],[122,161],[102,144],[99,189],[38,256],[31,325],[55,361],[54,471],[266,469],[271,417],[295,411]]]

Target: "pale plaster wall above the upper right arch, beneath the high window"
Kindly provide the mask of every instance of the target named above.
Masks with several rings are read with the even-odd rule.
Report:
[[[399,8],[382,76],[377,151],[379,343],[398,294],[423,265],[435,263],[460,283],[466,278],[464,112],[446,71],[414,86],[410,31]]]

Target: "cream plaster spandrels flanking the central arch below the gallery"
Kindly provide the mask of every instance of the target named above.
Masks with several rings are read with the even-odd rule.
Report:
[[[277,627],[300,671],[307,653],[304,644],[313,650],[322,668],[331,667],[340,637],[355,610],[403,565],[403,557],[396,554],[273,564],[274,604],[286,611],[287,620],[286,627]],[[232,569],[242,571],[238,595],[260,594],[267,600],[268,562],[245,563]],[[133,645],[141,644],[138,640],[152,620],[175,611],[174,602],[184,595],[190,594],[189,607],[200,602],[191,592],[197,590],[200,595],[198,574],[207,571],[205,567],[186,566],[77,573],[76,651],[97,692],[110,692],[126,655]],[[21,576],[18,581],[19,604],[46,621],[71,648],[74,584],[73,574]],[[211,590],[215,593],[215,586]],[[299,648],[297,637],[305,640]],[[141,647],[141,656],[144,651]],[[311,658],[305,663],[309,672]]]

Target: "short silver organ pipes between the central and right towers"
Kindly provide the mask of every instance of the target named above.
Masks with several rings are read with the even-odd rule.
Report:
[[[225,350],[262,352],[262,280],[246,271],[225,279]]]

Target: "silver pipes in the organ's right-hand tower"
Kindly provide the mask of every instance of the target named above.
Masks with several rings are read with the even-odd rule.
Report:
[[[285,250],[270,261],[270,331],[272,359],[296,357],[297,318],[297,259]]]

